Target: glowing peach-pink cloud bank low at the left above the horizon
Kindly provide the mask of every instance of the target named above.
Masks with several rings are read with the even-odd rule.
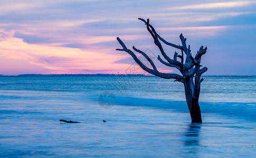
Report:
[[[24,43],[21,38],[13,37],[13,35],[13,32],[2,34],[0,52],[2,52],[1,56],[3,58],[29,61],[31,64],[48,70],[65,73],[79,73],[86,68],[91,71],[101,70],[101,72],[105,72],[105,68],[102,65],[105,65],[107,70],[112,70],[113,73],[116,73],[118,71],[116,66],[126,66],[124,64],[111,64],[113,61],[118,60],[120,56],[125,55],[120,54],[120,56],[116,56],[115,54],[108,53],[111,52],[108,49],[104,51],[84,51],[78,48],[28,44]],[[109,55],[106,55],[106,53]]]

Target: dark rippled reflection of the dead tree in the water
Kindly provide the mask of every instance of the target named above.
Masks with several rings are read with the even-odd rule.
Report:
[[[189,124],[187,131],[185,132],[185,146],[197,146],[200,145],[200,129],[201,129],[201,123],[191,123]]]

